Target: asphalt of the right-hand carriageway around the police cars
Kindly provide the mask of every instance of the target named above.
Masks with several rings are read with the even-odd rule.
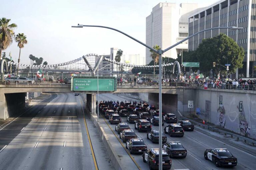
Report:
[[[133,99],[125,98],[116,96],[113,94],[100,94],[99,95],[99,101],[103,100],[112,100],[112,101],[132,101]],[[137,101],[138,102],[138,101]],[[143,101],[142,101],[143,102]],[[100,119],[105,119],[103,116],[100,117]],[[122,117],[122,122],[127,122],[126,117]],[[109,123],[108,120],[106,120],[106,123]],[[128,123],[128,122],[127,122]],[[135,133],[138,135],[138,138],[142,138],[144,142],[146,143],[148,149],[149,148],[158,148],[158,143],[152,143],[149,139],[147,139],[147,133],[146,132],[138,132],[138,130],[135,130],[134,124],[129,124],[131,129],[134,129]],[[167,126],[168,124],[165,123],[163,128]],[[115,131],[116,125],[110,125],[114,133],[116,135],[117,132]],[[158,126],[152,125],[152,130],[158,130]],[[213,137],[207,136],[204,133],[201,133],[197,131],[196,129],[194,131],[185,131],[185,135],[183,137],[170,137],[168,134],[165,134],[167,136],[167,142],[169,141],[179,141],[181,144],[187,149],[187,157],[186,158],[171,158],[172,159],[172,168],[171,169],[186,169],[186,170],[215,170],[215,169],[226,169],[223,167],[216,167],[215,164],[209,160],[204,159],[204,151],[205,149],[209,148],[227,148],[235,157],[238,159],[238,165],[231,169],[239,169],[239,170],[254,170],[256,167],[256,157],[246,153],[238,148],[235,148],[229,144],[226,144],[220,140],[216,140]],[[118,135],[119,136],[119,135]],[[125,146],[125,143],[123,143]],[[119,143],[120,149],[125,149],[123,146]],[[126,149],[127,150],[127,149]],[[127,150],[128,151],[128,150]],[[129,153],[127,153],[127,156]],[[149,169],[149,165],[144,163],[142,161],[141,154],[132,154],[132,157],[134,157],[135,162],[139,165],[140,169]],[[230,169],[230,168],[229,168]]]

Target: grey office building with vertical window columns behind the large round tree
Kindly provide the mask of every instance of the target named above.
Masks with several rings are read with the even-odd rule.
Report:
[[[220,0],[191,14],[189,35],[213,27],[242,27],[241,30],[220,29],[200,33],[189,39],[189,50],[195,50],[203,39],[224,33],[245,49],[243,68],[236,77],[256,77],[256,0]]]

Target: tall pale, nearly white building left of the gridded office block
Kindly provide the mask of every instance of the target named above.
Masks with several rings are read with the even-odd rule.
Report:
[[[198,8],[198,4],[159,3],[146,18],[146,44],[159,45],[165,49],[188,36],[189,12]],[[188,42],[183,42],[175,48],[165,52],[164,57],[177,58],[177,53],[188,49]],[[152,58],[150,50],[146,48],[146,64]]]

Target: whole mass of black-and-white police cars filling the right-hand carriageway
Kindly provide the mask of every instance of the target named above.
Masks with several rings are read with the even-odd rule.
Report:
[[[120,139],[126,143],[126,149],[130,151],[130,154],[142,153],[143,162],[148,163],[150,169],[158,169],[159,149],[148,149],[143,139],[138,138],[127,123],[122,123],[121,117],[126,117],[126,121],[130,124],[134,123],[134,128],[138,129],[139,132],[146,131],[147,139],[151,140],[152,143],[158,143],[159,130],[152,130],[152,125],[159,126],[159,110],[155,106],[149,106],[148,104],[138,103],[134,106],[131,102],[126,102],[123,106],[116,103],[113,103],[112,106],[99,103],[99,109],[110,124],[117,124],[115,130]],[[183,136],[185,130],[194,130],[194,125],[190,121],[178,121],[173,113],[162,113],[162,117],[162,126],[164,126],[164,122],[168,124],[164,128],[165,134]],[[170,169],[172,165],[170,157],[185,158],[187,150],[180,142],[167,142],[167,136],[164,133],[162,132],[162,164],[163,169]],[[237,165],[237,158],[226,148],[206,149],[204,158],[214,162],[217,167],[234,167]]]

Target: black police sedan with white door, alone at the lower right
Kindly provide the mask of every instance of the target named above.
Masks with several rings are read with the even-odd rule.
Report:
[[[218,166],[231,166],[237,165],[237,158],[234,157],[226,148],[206,149],[204,151],[204,158],[211,160]]]

